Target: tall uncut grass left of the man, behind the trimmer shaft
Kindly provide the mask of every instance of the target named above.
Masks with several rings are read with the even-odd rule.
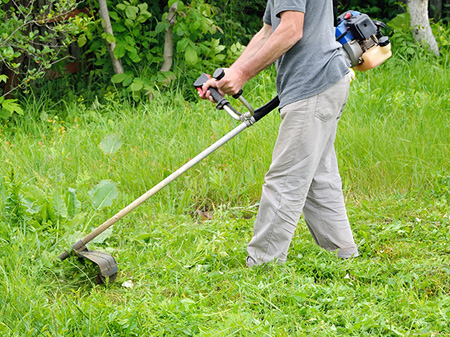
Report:
[[[250,94],[262,96],[257,104],[275,95],[273,86],[266,94],[271,85],[259,83],[255,87]],[[30,99],[27,117],[4,130],[2,159],[8,165],[2,167],[1,174],[7,175],[14,168],[18,176],[30,179],[29,185],[72,187],[80,193],[102,179],[111,179],[120,183],[127,201],[238,125],[210,103],[186,102],[177,93],[135,108],[111,100],[91,106],[71,102],[54,107],[42,101],[45,97]],[[161,197],[155,196],[155,206],[173,212],[204,203],[211,207],[212,203],[256,202],[276,138],[276,115],[267,120],[207,158]],[[103,153],[98,146],[108,135],[123,143],[113,155]],[[173,204],[183,200],[184,204]]]

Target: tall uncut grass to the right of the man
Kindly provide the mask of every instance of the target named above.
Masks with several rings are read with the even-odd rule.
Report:
[[[337,148],[356,194],[417,192],[447,174],[450,68],[395,60],[352,84]]]

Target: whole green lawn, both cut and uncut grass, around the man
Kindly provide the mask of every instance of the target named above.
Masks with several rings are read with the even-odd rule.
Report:
[[[359,258],[323,251],[301,221],[285,265],[245,267],[272,113],[90,245],[119,263],[108,286],[55,256],[236,122],[176,93],[136,108],[31,97],[0,132],[0,334],[450,335],[443,63],[392,59],[352,83],[336,147]],[[274,95],[271,75],[247,85],[255,106]],[[105,180],[117,196],[94,207]]]

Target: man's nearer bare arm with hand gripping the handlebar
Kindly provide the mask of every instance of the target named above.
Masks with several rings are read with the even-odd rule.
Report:
[[[282,12],[280,17],[280,25],[273,33],[267,34],[267,29],[271,26],[265,25],[252,39],[253,41],[256,38],[254,43],[250,43],[242,56],[226,71],[224,78],[220,81],[212,79],[206,82],[202,88],[203,92],[209,87],[216,87],[222,93],[234,95],[242,89],[249,79],[291,49],[303,36],[305,14],[286,11]],[[266,34],[263,34],[263,32],[266,32]],[[258,37],[260,33],[261,36]],[[249,47],[251,48],[249,49]],[[247,51],[247,49],[249,50]],[[207,92],[202,98],[209,97],[209,92]]]

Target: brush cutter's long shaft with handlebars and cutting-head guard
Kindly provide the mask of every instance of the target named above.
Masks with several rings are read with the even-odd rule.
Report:
[[[224,76],[223,69],[219,68],[217,69],[213,76],[217,80],[221,79]],[[194,87],[197,90],[201,90],[200,88],[203,86],[203,84],[208,81],[210,77],[206,74],[202,74],[195,82]],[[122,209],[120,212],[118,212],[116,215],[114,215],[109,220],[105,221],[102,225],[94,229],[90,234],[86,235],[79,241],[77,241],[72,248],[69,251],[64,251],[61,253],[58,258],[62,261],[70,256],[71,253],[75,253],[79,258],[86,259],[91,261],[92,263],[98,265],[99,273],[97,275],[97,282],[102,284],[105,283],[107,280],[108,282],[113,282],[115,278],[117,277],[117,263],[114,257],[112,257],[109,254],[93,251],[86,247],[86,244],[93,240],[95,237],[97,237],[99,234],[104,232],[107,228],[114,225],[117,221],[119,221],[121,218],[123,218],[125,215],[133,211],[136,207],[141,205],[144,201],[149,199],[151,196],[153,196],[156,192],[160,191],[163,187],[170,184],[173,180],[181,176],[183,173],[188,171],[190,168],[192,168],[194,165],[199,163],[202,159],[206,158],[208,155],[210,155],[212,152],[217,150],[219,147],[224,145],[226,142],[228,142],[230,139],[238,135],[241,131],[246,129],[249,126],[252,126],[257,121],[259,121],[261,118],[263,118],[265,115],[267,115],[269,112],[271,112],[273,109],[275,109],[280,101],[278,99],[278,96],[273,98],[269,103],[266,105],[260,107],[259,109],[254,110],[251,105],[242,97],[242,90],[238,94],[234,95],[233,97],[236,99],[239,99],[245,106],[248,108],[248,112],[245,114],[239,113],[235,108],[233,108],[228,102],[227,99],[225,99],[215,88],[209,89],[211,92],[211,96],[213,97],[214,101],[217,103],[216,108],[217,109],[223,109],[225,110],[231,117],[233,117],[236,120],[241,121],[242,123],[233,129],[231,132],[223,136],[221,139],[216,141],[213,145],[208,147],[206,150],[198,154],[195,158],[187,162],[185,165],[180,167],[178,170],[173,172],[171,175],[169,175],[167,178],[165,178],[163,181],[161,181],[159,184],[154,186],[152,189],[144,193],[142,196],[140,196],[138,199],[133,201],[131,204],[129,204],[127,207]]]

